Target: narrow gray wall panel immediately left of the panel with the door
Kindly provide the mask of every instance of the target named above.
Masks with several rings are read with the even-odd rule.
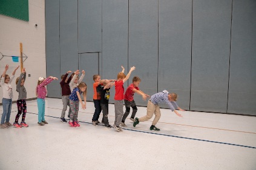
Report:
[[[61,74],[78,69],[77,1],[62,0],[60,4]]]

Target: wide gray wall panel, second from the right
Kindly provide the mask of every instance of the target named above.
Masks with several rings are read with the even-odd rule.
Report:
[[[226,112],[212,101],[228,101],[232,0],[193,2],[191,110]],[[207,110],[203,102],[211,104]]]

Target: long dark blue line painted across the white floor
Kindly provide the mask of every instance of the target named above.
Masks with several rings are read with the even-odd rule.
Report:
[[[31,112],[27,112],[27,113],[31,113]],[[31,113],[31,114],[38,115],[38,113]],[[45,116],[47,116],[47,115],[45,115]],[[57,118],[55,116],[47,116],[47,117]],[[60,118],[57,118],[57,119],[60,119]],[[79,121],[79,122],[83,122],[83,121]],[[89,123],[89,122],[83,122],[83,123],[92,124],[92,123]],[[137,132],[141,132],[141,133],[156,134],[156,135],[160,135],[160,136],[177,137],[177,138],[181,138],[181,139],[199,140],[199,141],[203,141],[203,142],[220,143],[220,144],[224,144],[224,145],[233,145],[233,146],[240,146],[240,147],[245,147],[245,148],[256,149],[256,147],[254,147],[254,146],[237,145],[237,144],[234,144],[234,143],[225,143],[225,142],[217,142],[217,141],[212,141],[212,140],[195,139],[195,138],[191,138],[191,137],[173,136],[173,135],[169,135],[169,134],[152,133],[152,132],[148,132],[148,131],[132,130],[132,129],[128,129],[128,128],[123,128],[123,129],[130,130],[130,131],[137,131]]]

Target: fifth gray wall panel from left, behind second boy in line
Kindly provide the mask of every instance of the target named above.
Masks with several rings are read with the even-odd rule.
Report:
[[[140,77],[142,91],[157,92],[158,65],[158,1],[132,0],[129,4],[129,56],[128,66],[136,66],[134,75]],[[142,99],[138,105],[146,105]]]

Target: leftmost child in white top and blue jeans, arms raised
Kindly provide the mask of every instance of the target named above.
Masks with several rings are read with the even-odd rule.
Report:
[[[13,98],[13,89],[11,88],[11,81],[15,77],[15,72],[19,68],[19,66],[13,71],[11,77],[9,77],[6,72],[9,68],[9,65],[5,66],[5,70],[1,76],[0,86],[2,87],[2,118],[0,128],[8,128],[12,125],[10,124],[10,116],[11,116],[11,104]],[[5,122],[4,122],[5,121]]]

